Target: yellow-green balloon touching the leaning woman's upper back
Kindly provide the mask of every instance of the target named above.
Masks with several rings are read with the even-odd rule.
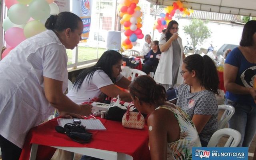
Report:
[[[44,27],[44,25],[41,22],[39,22],[37,20],[32,20],[25,25],[24,35],[26,38],[30,38],[38,33],[45,31],[45,30],[46,30],[46,28]]]

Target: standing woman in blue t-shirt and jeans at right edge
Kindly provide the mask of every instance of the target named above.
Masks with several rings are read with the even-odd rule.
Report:
[[[238,147],[249,147],[256,133],[256,20],[244,25],[240,46],[234,48],[224,64],[225,104],[234,106],[230,128],[238,130]]]

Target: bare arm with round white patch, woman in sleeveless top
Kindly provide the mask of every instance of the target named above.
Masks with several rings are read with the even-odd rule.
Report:
[[[160,117],[159,114],[151,114],[148,117],[148,135],[151,160],[166,160],[167,158],[168,139],[165,124],[165,119]]]

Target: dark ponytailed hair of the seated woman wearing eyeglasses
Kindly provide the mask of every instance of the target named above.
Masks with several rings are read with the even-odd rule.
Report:
[[[218,85],[220,83],[218,78],[217,68],[209,56],[200,56],[199,54],[193,54],[187,56],[183,63],[185,68],[192,72],[196,72],[196,78],[200,80],[200,84],[204,86],[206,90],[219,94]]]

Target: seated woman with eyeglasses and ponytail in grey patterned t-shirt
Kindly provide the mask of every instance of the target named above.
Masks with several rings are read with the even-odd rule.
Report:
[[[182,63],[180,75],[184,84],[178,90],[177,106],[192,119],[202,147],[206,147],[212,134],[218,129],[219,78],[216,66],[209,56],[194,54]]]

